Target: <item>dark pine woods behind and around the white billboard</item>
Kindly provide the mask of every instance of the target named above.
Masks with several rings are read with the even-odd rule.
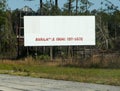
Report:
[[[104,0],[101,1],[99,8],[93,8],[95,3],[90,0],[66,0],[63,7],[60,8],[58,0],[43,1],[40,0],[40,8],[37,11],[30,9],[31,11],[25,12],[21,9],[11,11],[7,6],[7,1],[0,0],[0,58],[16,58],[20,54],[20,57],[32,55],[38,56],[37,58],[40,59],[47,57],[47,59],[62,58],[63,61],[67,58],[87,60],[91,58],[91,55],[95,56],[96,53],[104,55],[103,53],[120,52],[120,10],[114,3]],[[24,15],[94,15],[96,17],[96,45],[24,47],[18,43],[17,39],[18,34],[24,35],[24,32],[19,31],[23,25],[21,16]]]

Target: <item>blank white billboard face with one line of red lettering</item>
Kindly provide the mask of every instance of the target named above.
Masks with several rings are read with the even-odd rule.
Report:
[[[25,16],[24,45],[95,45],[95,16]]]

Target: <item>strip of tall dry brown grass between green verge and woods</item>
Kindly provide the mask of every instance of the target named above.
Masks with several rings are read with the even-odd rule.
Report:
[[[1,60],[2,64],[11,65],[47,65],[47,66],[76,66],[84,68],[120,68],[120,56],[116,54],[96,54],[86,60],[55,59],[52,61],[35,60],[27,57],[19,60]]]

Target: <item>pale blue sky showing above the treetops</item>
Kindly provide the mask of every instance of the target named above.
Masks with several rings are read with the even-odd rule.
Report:
[[[46,0],[43,0],[45,2]],[[47,0],[49,1],[49,0]],[[54,0],[53,0],[54,1]],[[58,0],[59,7],[63,7],[64,3],[66,3],[67,0]],[[101,7],[101,1],[105,0],[89,0],[90,2],[94,3],[94,5],[91,7],[91,9],[98,9]],[[115,6],[120,6],[120,0],[108,0],[111,1]],[[27,0],[7,0],[8,8],[11,10],[15,9],[21,9],[25,5],[31,7],[34,11],[36,11],[39,8],[39,2],[40,0],[33,0],[33,1],[27,1]],[[120,7],[119,7],[120,10]]]

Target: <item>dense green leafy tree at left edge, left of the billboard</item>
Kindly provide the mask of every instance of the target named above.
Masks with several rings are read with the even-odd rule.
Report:
[[[12,28],[11,12],[4,12],[4,23],[0,29],[0,52],[2,56],[11,58],[16,55],[16,37]]]

